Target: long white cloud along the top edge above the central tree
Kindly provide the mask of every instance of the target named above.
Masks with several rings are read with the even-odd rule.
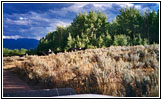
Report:
[[[80,13],[80,12],[88,12],[89,10],[94,10],[94,11],[102,11],[106,12],[114,8],[113,5],[117,5],[120,8],[125,8],[125,7],[133,7],[133,3],[74,3],[73,5],[69,7],[64,7],[59,10],[51,9],[49,12],[53,14],[57,14],[59,16],[66,16],[69,12],[74,12],[74,13]],[[139,7],[139,6],[137,6]],[[113,12],[111,12],[113,13]]]

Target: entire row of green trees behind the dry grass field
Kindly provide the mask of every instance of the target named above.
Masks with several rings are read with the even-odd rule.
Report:
[[[101,11],[77,14],[71,25],[58,26],[28,53],[153,43],[159,43],[159,10],[140,13],[135,7],[126,7],[120,9],[120,14],[112,22],[108,22],[106,14]]]

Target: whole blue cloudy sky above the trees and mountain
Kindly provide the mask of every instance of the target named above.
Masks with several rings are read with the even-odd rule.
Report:
[[[70,25],[76,14],[100,10],[112,22],[121,8],[133,6],[141,13],[159,9],[158,3],[3,3],[3,38],[39,40],[57,26]]]

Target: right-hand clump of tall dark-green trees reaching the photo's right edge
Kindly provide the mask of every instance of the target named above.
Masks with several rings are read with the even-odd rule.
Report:
[[[112,24],[116,24],[117,34],[125,33],[130,36],[131,40],[140,35],[143,40],[146,38],[151,44],[159,43],[159,10],[157,12],[145,11],[144,14],[141,14],[135,7],[127,7],[120,10],[120,15],[116,17],[115,21]],[[131,44],[136,45],[133,42]]]

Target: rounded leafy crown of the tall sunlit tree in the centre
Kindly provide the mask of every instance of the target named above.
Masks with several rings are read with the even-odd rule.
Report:
[[[74,21],[71,25],[71,31],[74,37],[77,35],[81,36],[81,33],[86,34],[88,37],[91,37],[92,34],[96,34],[96,37],[99,37],[102,33],[107,30],[107,17],[105,14],[102,14],[100,11],[95,13],[90,11],[89,14],[79,14],[74,18]]]

